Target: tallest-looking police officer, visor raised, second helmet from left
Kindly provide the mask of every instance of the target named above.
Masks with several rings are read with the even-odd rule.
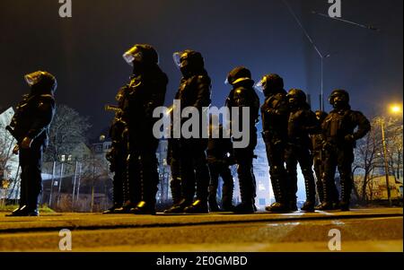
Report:
[[[129,142],[128,177],[129,181],[137,183],[135,188],[141,190],[131,213],[154,214],[159,182],[155,152],[159,140],[153,134],[153,112],[164,102],[168,78],[160,69],[158,54],[151,45],[136,44],[124,58],[133,66],[123,104]]]

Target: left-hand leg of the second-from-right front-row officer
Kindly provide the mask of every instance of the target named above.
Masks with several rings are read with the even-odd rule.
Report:
[[[286,185],[287,191],[287,205],[291,211],[297,211],[296,205],[296,193],[297,193],[297,156],[296,149],[289,147],[285,151],[285,163],[286,163]]]

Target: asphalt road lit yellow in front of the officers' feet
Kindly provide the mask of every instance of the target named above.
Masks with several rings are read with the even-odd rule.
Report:
[[[253,215],[54,213],[39,218],[0,213],[0,251],[60,251],[61,229],[72,231],[72,251],[327,252],[336,236],[331,230],[340,233],[340,251],[403,251],[402,208]]]

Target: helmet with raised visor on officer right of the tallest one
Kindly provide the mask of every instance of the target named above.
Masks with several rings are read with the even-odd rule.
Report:
[[[204,57],[198,51],[186,49],[174,53],[172,57],[184,77],[199,74],[205,69]]]

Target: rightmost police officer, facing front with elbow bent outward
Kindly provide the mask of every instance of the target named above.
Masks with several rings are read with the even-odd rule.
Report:
[[[334,90],[329,96],[329,103],[333,110],[322,123],[322,132],[325,138],[324,152],[324,202],[321,210],[331,210],[332,183],[338,168],[341,180],[340,209],[349,210],[350,196],[353,186],[352,162],[354,161],[354,148],[356,140],[363,138],[371,125],[360,111],[352,110],[349,106],[349,94],[345,90]]]

